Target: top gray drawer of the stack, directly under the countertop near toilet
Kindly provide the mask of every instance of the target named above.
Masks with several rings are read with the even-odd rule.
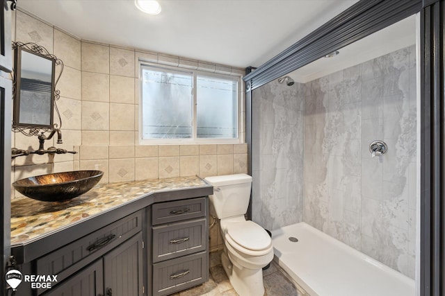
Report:
[[[204,217],[207,213],[206,204],[206,198],[153,204],[153,225]]]

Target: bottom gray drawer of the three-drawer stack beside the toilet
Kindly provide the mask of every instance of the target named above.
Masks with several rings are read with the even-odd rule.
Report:
[[[153,265],[153,296],[169,295],[209,279],[207,252],[182,256]]]

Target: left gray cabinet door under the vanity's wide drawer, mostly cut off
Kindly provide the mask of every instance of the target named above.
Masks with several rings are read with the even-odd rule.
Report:
[[[104,295],[102,259],[44,293],[45,296],[99,296]]]

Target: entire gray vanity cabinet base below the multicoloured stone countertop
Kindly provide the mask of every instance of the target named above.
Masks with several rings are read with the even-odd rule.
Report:
[[[1,1],[1,0],[0,0]],[[211,186],[163,191],[42,236],[15,251],[16,296],[160,296],[209,279]],[[37,283],[38,284],[38,283]]]

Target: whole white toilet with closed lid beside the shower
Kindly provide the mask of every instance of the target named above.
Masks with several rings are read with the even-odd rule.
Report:
[[[245,220],[252,177],[246,174],[206,177],[213,186],[211,214],[220,219],[224,252],[221,263],[240,296],[263,296],[263,270],[273,259],[270,236],[261,226]]]

